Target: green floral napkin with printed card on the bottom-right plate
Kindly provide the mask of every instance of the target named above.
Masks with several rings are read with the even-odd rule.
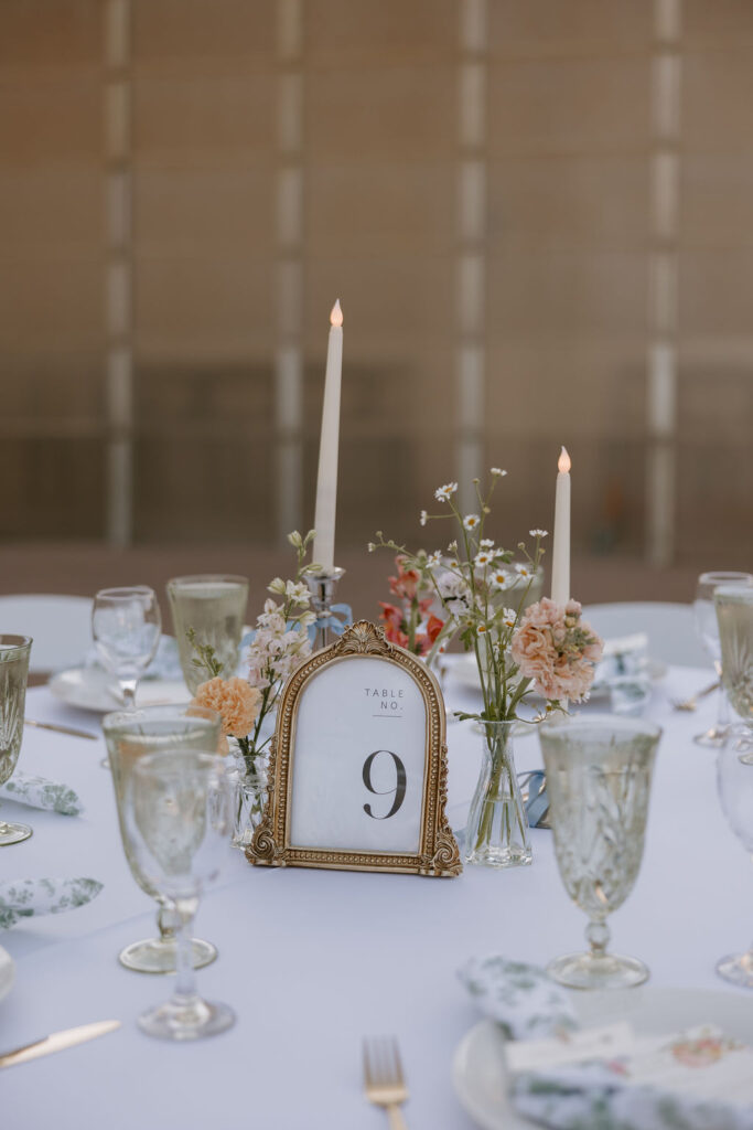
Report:
[[[552,1130],[753,1130],[753,1050],[718,1028],[579,1029],[568,996],[537,966],[473,958],[458,976],[513,1041],[509,1094],[522,1116]]]

